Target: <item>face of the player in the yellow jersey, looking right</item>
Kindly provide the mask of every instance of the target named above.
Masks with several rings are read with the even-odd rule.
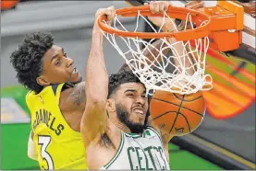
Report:
[[[53,45],[43,57],[43,77],[50,84],[79,83],[81,75],[63,48]]]

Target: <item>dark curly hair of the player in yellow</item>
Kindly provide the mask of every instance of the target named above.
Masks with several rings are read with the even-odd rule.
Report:
[[[10,56],[10,61],[17,72],[18,83],[39,93],[43,85],[36,78],[43,72],[43,55],[51,49],[54,37],[50,33],[36,32],[26,35],[23,42]]]

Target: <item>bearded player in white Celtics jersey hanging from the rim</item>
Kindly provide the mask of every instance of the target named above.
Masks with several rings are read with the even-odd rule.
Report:
[[[153,13],[163,13],[167,7],[166,2],[150,4]],[[111,20],[115,14],[113,6],[99,9],[92,30],[91,52],[86,67],[87,102],[81,121],[88,168],[168,170],[167,145],[173,136],[146,117],[148,98],[145,86],[128,71],[108,78],[104,63],[104,36],[97,18],[107,15]],[[168,25],[165,29],[173,31],[174,27]],[[176,50],[180,51],[178,49],[177,46]]]

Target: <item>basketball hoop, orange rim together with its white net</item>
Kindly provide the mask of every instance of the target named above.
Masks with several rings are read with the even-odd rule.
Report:
[[[126,29],[118,17],[137,17],[136,28],[134,30]],[[146,17],[163,17],[160,29],[153,29]],[[140,18],[152,27],[153,33],[137,31]],[[185,27],[182,30],[175,28],[176,32],[161,32],[165,19],[169,19],[174,24],[172,18],[184,20]],[[193,26],[198,21],[201,26],[195,29]],[[209,74],[204,74],[206,52],[209,47],[208,35],[211,31],[209,29],[210,22],[210,17],[199,11],[175,6],[169,6],[164,14],[152,14],[149,6],[117,9],[111,26],[107,25],[105,16],[98,20],[106,40],[116,48],[116,51],[125,59],[129,68],[140,78],[141,83],[148,90],[153,90],[153,92],[162,90],[182,95],[212,88],[212,77]],[[169,42],[170,38],[175,38],[177,41]],[[116,39],[123,40],[128,50],[124,48],[121,50],[120,43],[117,44]],[[147,42],[143,39],[151,40]],[[153,40],[161,41],[159,49],[152,46]],[[178,43],[182,45],[182,52],[175,48]],[[195,48],[192,48],[190,43],[195,45]],[[141,45],[145,47],[143,50],[140,49]],[[152,49],[158,54],[152,53]],[[164,54],[163,51],[166,49],[170,49],[173,54]],[[153,59],[145,56],[145,51],[149,51]],[[185,64],[185,60],[189,66]],[[174,61],[179,63],[178,67]],[[167,72],[167,66],[173,67],[173,71]],[[187,72],[189,69],[193,70],[193,74]]]

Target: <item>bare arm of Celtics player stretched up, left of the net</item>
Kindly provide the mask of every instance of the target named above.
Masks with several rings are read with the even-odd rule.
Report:
[[[81,133],[84,145],[99,138],[106,127],[106,99],[108,94],[108,74],[104,63],[103,33],[98,26],[98,18],[106,15],[108,19],[115,16],[113,6],[99,9],[95,15],[92,30],[91,51],[86,67],[86,106],[81,120]]]

